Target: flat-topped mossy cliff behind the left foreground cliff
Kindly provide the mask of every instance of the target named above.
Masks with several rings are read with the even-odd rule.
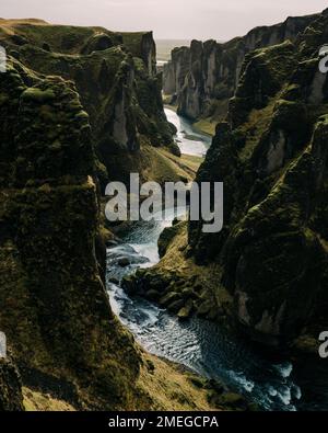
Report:
[[[124,156],[140,153],[142,143],[173,146],[152,33],[2,21],[0,43],[28,68],[75,83],[90,115],[103,186],[108,178],[127,178]]]

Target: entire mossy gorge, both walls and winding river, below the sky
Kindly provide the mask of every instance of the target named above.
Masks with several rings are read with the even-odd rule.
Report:
[[[0,410],[327,408],[327,42],[325,10],[162,72],[152,32],[0,19]],[[109,223],[130,173],[223,182],[223,229]]]

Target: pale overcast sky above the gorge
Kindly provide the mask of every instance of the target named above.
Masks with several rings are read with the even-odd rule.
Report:
[[[327,0],[0,0],[0,16],[114,31],[153,30],[155,38],[226,41],[257,25],[327,7]]]

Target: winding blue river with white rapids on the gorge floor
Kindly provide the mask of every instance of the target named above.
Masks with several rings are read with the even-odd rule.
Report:
[[[178,128],[177,139],[183,151],[198,156],[207,151],[209,137],[192,130],[175,112],[166,110],[166,115]],[[263,410],[320,408],[313,402],[320,401],[318,396],[304,401],[301,384],[311,380],[308,376],[302,380],[296,377],[289,358],[272,360],[219,324],[196,317],[179,321],[156,305],[129,297],[121,289],[122,276],[159,262],[157,239],[173,218],[172,209],[166,221],[136,223],[122,235],[121,243],[107,250],[107,289],[113,310],[121,322],[147,351],[184,364],[204,377],[224,381]]]

